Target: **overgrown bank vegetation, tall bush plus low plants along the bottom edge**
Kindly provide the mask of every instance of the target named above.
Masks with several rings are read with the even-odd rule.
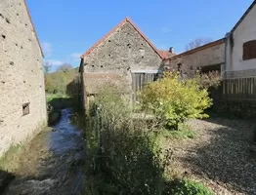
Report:
[[[129,100],[105,88],[87,117],[86,194],[213,194],[200,183],[171,175],[172,148],[157,140],[159,126],[134,120]],[[159,135],[158,135],[159,136]]]

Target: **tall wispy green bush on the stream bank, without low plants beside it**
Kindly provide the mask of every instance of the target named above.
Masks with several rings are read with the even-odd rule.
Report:
[[[96,129],[101,129],[102,150],[94,159],[92,182],[85,182],[86,193],[158,195],[164,188],[163,173],[171,152],[153,149],[155,141],[146,124],[133,122],[132,107],[117,92],[106,90],[96,97],[100,109],[91,112],[101,116]]]

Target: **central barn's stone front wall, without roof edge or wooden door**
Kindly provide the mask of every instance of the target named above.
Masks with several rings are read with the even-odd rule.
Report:
[[[131,70],[157,70],[162,59],[133,24],[126,21],[85,56],[82,62],[83,68],[80,70],[84,72],[85,92],[83,94],[90,95],[97,94],[95,91],[97,91],[97,85],[99,87],[102,85],[102,78],[104,83],[118,83],[130,92]],[[88,102],[88,99],[85,99],[85,102]]]

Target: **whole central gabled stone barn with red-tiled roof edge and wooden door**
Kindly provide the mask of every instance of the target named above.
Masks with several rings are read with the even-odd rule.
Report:
[[[85,107],[103,84],[119,85],[136,99],[142,84],[154,79],[166,51],[158,51],[126,18],[81,56],[80,72]]]

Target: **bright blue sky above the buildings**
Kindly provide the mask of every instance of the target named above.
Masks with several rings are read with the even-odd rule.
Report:
[[[158,49],[185,50],[195,38],[225,36],[253,0],[26,0],[45,60],[79,65],[79,56],[125,17]]]

